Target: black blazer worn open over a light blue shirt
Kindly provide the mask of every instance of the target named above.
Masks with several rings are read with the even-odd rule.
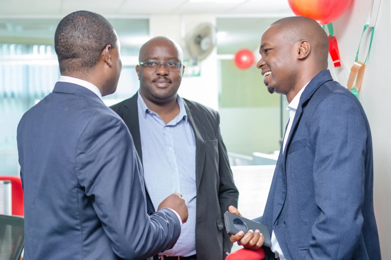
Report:
[[[136,93],[132,98],[111,108],[129,128],[142,160],[137,95]],[[230,236],[223,230],[223,214],[230,205],[237,207],[239,192],[234,184],[227,149],[220,134],[220,116],[199,103],[186,99],[183,99],[183,103],[196,140],[197,259],[225,259],[226,253],[231,251],[232,243],[229,241]],[[152,209],[150,200],[149,205],[149,209]]]

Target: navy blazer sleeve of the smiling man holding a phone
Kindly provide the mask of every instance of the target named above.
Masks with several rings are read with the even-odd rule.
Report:
[[[328,96],[315,109],[310,130],[314,149],[315,201],[307,260],[353,259],[363,227],[368,132],[359,106],[346,94]]]

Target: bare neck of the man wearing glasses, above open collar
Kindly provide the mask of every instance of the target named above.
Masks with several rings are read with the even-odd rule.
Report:
[[[168,124],[169,122],[171,122],[171,120],[173,120],[176,116],[179,115],[180,108],[177,101],[177,95],[175,95],[174,99],[169,100],[165,103],[155,103],[145,98],[141,91],[139,91],[139,94],[144,100],[147,108],[158,114],[165,124]]]

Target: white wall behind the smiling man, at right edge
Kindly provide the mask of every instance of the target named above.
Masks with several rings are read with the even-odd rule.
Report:
[[[370,0],[355,0],[350,9],[334,23],[341,61],[346,69],[337,73],[338,80],[346,86],[346,76],[355,61],[361,33],[366,23]],[[391,5],[382,0],[367,62],[364,83],[359,94],[370,122],[374,147],[374,203],[378,223],[382,259],[391,257]],[[368,37],[367,37],[368,38]],[[364,61],[367,48],[360,50]],[[330,68],[333,65],[330,63]],[[352,156],[355,156],[352,154]]]

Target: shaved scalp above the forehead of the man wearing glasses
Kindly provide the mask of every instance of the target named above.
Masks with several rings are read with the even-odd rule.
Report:
[[[180,62],[183,61],[183,52],[181,46],[179,46],[178,43],[176,43],[175,41],[171,40],[169,37],[166,36],[157,36],[144,43],[140,48],[138,60],[139,61],[146,60],[149,53],[151,53],[153,49],[156,49],[160,46],[168,46],[174,48],[177,51],[178,60]]]

